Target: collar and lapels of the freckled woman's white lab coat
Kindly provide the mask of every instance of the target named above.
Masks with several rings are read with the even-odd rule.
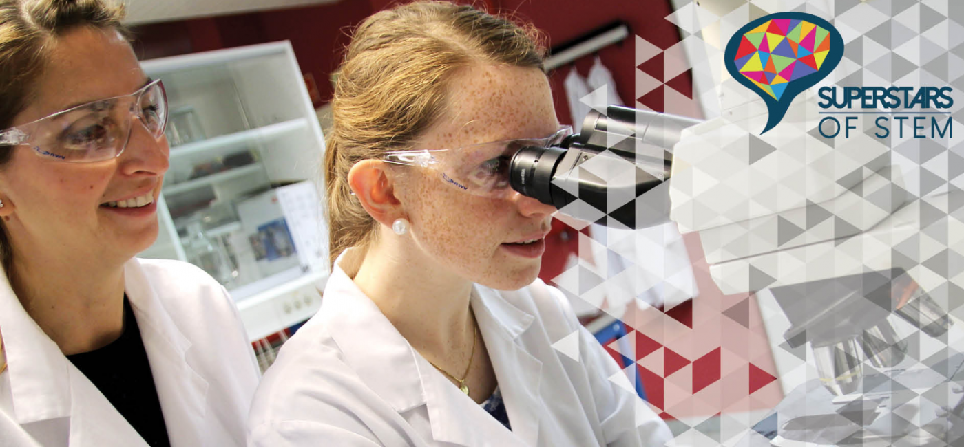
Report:
[[[487,439],[493,445],[517,445],[522,440],[536,445],[542,362],[518,340],[535,317],[495,290],[477,284],[472,289],[472,309],[495,366],[510,433],[419,355],[342,270],[340,261],[349,250],[335,261],[319,315],[362,381],[400,413],[426,405],[437,441],[472,445],[472,439]],[[471,414],[477,417],[467,419]]]

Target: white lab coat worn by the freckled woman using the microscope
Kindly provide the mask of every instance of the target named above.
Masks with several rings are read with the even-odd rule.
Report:
[[[672,436],[648,404],[609,380],[623,372],[558,290],[541,280],[512,292],[475,285],[470,302],[511,432],[419,355],[336,265],[321,309],[258,386],[249,445],[661,446]],[[563,349],[579,361],[552,347],[576,331],[573,349]]]

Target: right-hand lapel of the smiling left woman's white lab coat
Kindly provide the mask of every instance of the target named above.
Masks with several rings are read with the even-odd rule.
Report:
[[[204,445],[208,383],[191,366],[191,342],[174,325],[136,259],[124,266],[124,277],[171,445]]]

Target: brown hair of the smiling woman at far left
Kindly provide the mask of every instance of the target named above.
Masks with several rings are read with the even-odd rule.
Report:
[[[34,96],[51,42],[78,26],[114,28],[123,5],[105,0],[0,0],[0,130],[6,129]],[[0,146],[0,169],[10,161],[13,146]],[[11,275],[11,246],[0,226],[0,262]]]

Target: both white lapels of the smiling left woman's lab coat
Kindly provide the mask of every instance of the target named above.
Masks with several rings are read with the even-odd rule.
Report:
[[[191,342],[174,325],[137,259],[124,265],[124,290],[141,329],[172,444],[203,445],[198,421],[205,415],[208,384],[187,359]],[[69,417],[70,445],[137,444],[140,436],[30,318],[2,269],[0,330],[17,423]]]

